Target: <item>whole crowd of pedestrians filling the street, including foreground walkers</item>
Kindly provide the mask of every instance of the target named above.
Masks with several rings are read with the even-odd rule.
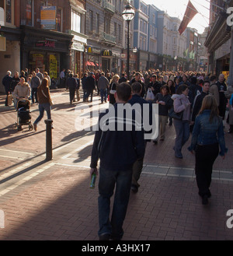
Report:
[[[11,76],[7,72],[2,83],[7,95],[12,93],[15,103],[20,97],[30,98],[32,103],[39,103],[40,115],[34,122],[37,124],[43,118],[44,110],[48,119],[51,118],[50,97],[51,79],[47,72],[40,73],[36,68],[32,75],[27,71]],[[79,89],[82,86],[84,103],[92,102],[94,91],[99,96],[100,103],[110,103],[103,117],[114,113],[117,119],[120,104],[129,103],[134,106],[148,106],[150,124],[153,118],[153,104],[158,106],[158,138],[152,140],[157,146],[158,140],[165,140],[167,125],[176,130],[176,140],[173,146],[174,156],[182,160],[183,148],[192,135],[191,144],[187,149],[195,153],[196,184],[203,205],[207,205],[211,196],[210,183],[214,161],[220,155],[223,159],[228,151],[224,141],[223,121],[227,113],[226,122],[228,132],[233,132],[233,86],[227,86],[224,75],[219,77],[198,72],[161,72],[149,70],[131,72],[127,78],[125,73],[120,75],[97,70],[83,73],[82,78],[71,71],[60,74],[60,84],[69,89],[70,104],[80,101]],[[7,105],[7,99],[5,101]],[[136,128],[136,112],[133,110],[133,127],[127,130],[127,116],[124,110],[121,122],[123,130],[96,131],[92,146],[92,160],[90,174],[99,174],[99,239],[120,240],[123,237],[123,220],[126,216],[130,191],[138,192],[138,183],[143,168],[144,153],[149,139],[145,139],[148,131],[144,130],[143,107],[141,107],[141,130]],[[118,120],[117,120],[118,121]],[[115,123],[116,124],[116,123]],[[117,124],[116,124],[117,125]],[[99,170],[97,170],[100,160]],[[115,190],[113,212],[110,219],[110,198]]]

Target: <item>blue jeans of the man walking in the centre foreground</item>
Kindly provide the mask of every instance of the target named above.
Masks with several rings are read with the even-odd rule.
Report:
[[[130,198],[132,169],[126,171],[110,171],[99,169],[99,236],[105,233],[120,240],[123,237],[123,220],[127,213]],[[113,213],[110,221],[110,198],[116,184],[113,202]]]

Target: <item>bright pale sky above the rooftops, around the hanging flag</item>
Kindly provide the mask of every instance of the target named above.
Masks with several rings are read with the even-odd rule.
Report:
[[[166,11],[169,16],[179,17],[182,20],[189,0],[144,0],[143,2],[155,5],[158,9]],[[191,0],[191,2],[199,13],[196,14],[189,26],[196,28],[198,33],[203,33],[205,27],[209,26],[210,0]]]

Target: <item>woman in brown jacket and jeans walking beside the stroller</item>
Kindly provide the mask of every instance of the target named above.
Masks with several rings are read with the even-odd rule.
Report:
[[[51,104],[52,100],[50,97],[50,89],[48,87],[48,79],[45,78],[42,80],[41,85],[37,89],[37,96],[39,102],[39,111],[40,115],[37,117],[37,120],[34,122],[34,130],[37,132],[37,125],[43,118],[44,110],[47,112],[47,119],[51,119]],[[53,126],[52,126],[53,128]]]

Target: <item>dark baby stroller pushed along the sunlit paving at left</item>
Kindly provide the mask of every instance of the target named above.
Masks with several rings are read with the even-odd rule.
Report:
[[[33,131],[33,124],[31,124],[30,100],[20,99],[17,103],[17,122],[16,128],[18,131],[23,131],[22,126],[28,125],[30,131]]]

